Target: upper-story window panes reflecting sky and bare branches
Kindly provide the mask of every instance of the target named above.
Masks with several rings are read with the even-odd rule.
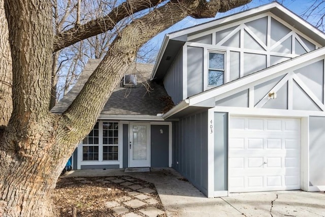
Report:
[[[208,85],[220,86],[224,77],[224,53],[209,52]]]

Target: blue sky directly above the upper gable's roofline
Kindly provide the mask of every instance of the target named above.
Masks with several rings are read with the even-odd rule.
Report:
[[[289,9],[290,11],[296,13],[297,15],[301,15],[306,9],[308,9],[308,7],[310,7],[311,3],[313,3],[314,1],[315,0],[283,0],[283,1],[278,1],[278,2],[281,3],[287,9]],[[323,0],[317,0],[317,1],[322,2]],[[258,7],[261,5],[269,4],[271,2],[274,2],[274,1],[253,0],[251,3],[249,3],[243,7],[239,7],[239,8],[233,9],[233,10],[225,12],[225,13],[218,13],[214,18],[194,19],[191,17],[186,17],[182,21],[176,23],[172,27],[166,29],[164,32],[162,32],[162,33],[158,34],[156,37],[152,38],[149,41],[149,43],[151,46],[155,46],[158,49],[158,48],[160,48],[160,45],[163,42],[165,34],[172,33],[177,30],[180,30],[180,29],[183,29],[186,27],[190,27],[190,26],[194,26],[194,25],[197,25],[200,23],[208,22],[210,20],[218,19],[218,18],[221,18],[224,16],[228,16],[228,15],[231,15],[234,13],[238,13],[243,10],[247,10],[247,9],[255,8],[255,7]],[[314,24],[313,21],[314,20],[312,20],[312,18],[310,18],[308,20],[308,22],[310,22],[311,24]]]

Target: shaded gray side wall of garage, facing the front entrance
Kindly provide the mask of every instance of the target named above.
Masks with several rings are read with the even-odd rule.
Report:
[[[207,195],[208,112],[173,123],[173,168]]]

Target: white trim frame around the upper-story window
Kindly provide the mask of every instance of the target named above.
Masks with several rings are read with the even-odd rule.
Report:
[[[204,49],[204,90],[208,90],[217,86],[213,86],[213,85],[209,85],[209,54],[210,53],[219,53],[219,54],[223,54],[223,70],[221,69],[212,69],[214,71],[223,71],[223,84],[225,83],[225,79],[226,79],[226,51],[225,50],[211,50],[211,49]],[[222,84],[221,84],[222,85]],[[219,85],[220,86],[220,85]]]

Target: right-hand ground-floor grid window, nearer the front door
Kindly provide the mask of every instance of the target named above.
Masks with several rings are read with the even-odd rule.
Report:
[[[103,160],[118,160],[117,122],[103,122]]]

